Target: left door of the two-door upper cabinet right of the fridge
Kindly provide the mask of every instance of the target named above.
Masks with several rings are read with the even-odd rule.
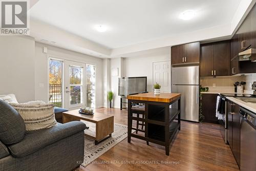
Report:
[[[214,46],[212,44],[201,45],[200,76],[214,76]]]

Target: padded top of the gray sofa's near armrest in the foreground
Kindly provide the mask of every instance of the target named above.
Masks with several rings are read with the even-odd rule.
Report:
[[[80,121],[58,123],[49,129],[26,134],[22,141],[9,145],[8,148],[12,156],[20,158],[85,129],[86,124]]]

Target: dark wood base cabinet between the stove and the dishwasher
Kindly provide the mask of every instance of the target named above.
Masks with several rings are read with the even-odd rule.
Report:
[[[234,102],[228,101],[228,143],[236,159],[238,165],[240,166],[240,129],[241,129],[241,119],[240,119],[240,106]]]

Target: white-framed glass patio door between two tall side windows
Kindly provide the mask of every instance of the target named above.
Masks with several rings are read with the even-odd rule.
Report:
[[[86,102],[86,64],[65,60],[64,98],[65,108],[77,109]]]

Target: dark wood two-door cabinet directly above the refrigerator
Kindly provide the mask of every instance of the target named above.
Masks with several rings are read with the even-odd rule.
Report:
[[[200,61],[200,42],[173,46],[171,48],[171,61],[173,64],[191,63]]]

